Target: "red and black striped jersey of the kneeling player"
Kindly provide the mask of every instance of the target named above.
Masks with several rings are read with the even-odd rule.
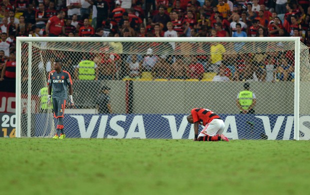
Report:
[[[219,115],[206,108],[193,108],[190,110],[190,113],[192,115],[193,123],[199,122],[202,125],[210,123],[214,118],[220,119]]]

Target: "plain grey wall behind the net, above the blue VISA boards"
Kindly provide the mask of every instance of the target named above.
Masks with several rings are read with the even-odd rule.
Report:
[[[77,80],[74,82],[74,96],[79,96],[79,98],[75,98],[75,103],[80,108],[95,107],[95,99],[87,94],[98,93],[102,85],[107,85],[111,88],[109,95],[113,113],[126,113],[126,84],[124,81],[95,81],[97,91],[89,88],[87,82],[93,81]],[[206,107],[216,113],[238,113],[235,99],[238,92],[243,90],[243,83],[133,81],[132,113],[187,113],[193,107]],[[251,87],[251,90],[255,93],[257,100],[256,114],[293,114],[293,82],[255,82],[252,85],[254,87]],[[198,94],[194,94],[197,88],[200,91]],[[287,93],[287,91],[290,92]],[[225,98],[218,98],[222,96]],[[282,102],[287,102],[289,106],[281,106]]]

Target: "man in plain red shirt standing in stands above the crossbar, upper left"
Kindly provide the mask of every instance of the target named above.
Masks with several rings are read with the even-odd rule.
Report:
[[[59,11],[58,15],[52,16],[48,19],[45,31],[48,36],[59,36],[61,33],[64,34],[64,11]]]

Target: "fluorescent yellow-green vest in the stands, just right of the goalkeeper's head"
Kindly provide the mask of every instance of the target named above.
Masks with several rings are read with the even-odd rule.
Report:
[[[78,63],[78,66],[78,79],[93,80],[96,77],[94,61],[83,60]]]

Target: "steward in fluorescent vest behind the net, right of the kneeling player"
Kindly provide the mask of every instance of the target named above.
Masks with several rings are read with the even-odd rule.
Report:
[[[244,90],[240,91],[237,96],[236,105],[240,109],[240,113],[254,113],[256,96],[252,91],[249,90],[248,82],[243,84],[243,88]]]

